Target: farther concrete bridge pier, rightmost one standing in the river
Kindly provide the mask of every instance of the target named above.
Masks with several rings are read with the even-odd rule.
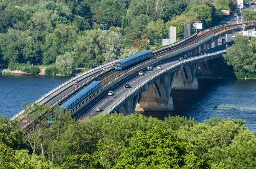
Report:
[[[184,66],[182,71],[177,72],[172,90],[198,90],[198,79],[195,77],[197,64]]]

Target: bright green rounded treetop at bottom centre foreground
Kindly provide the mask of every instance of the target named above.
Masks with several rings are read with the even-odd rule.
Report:
[[[156,126],[146,133],[137,132],[114,168],[199,169],[201,166],[202,161],[192,151],[191,144],[181,140],[177,132]]]

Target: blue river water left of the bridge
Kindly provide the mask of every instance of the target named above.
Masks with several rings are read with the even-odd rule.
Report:
[[[12,117],[70,77],[0,74],[0,115]]]

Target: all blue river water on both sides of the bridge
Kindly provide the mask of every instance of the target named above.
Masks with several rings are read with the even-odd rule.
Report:
[[[32,103],[70,77],[0,74],[0,115],[12,117],[23,103]],[[198,91],[172,91],[173,112],[143,112],[163,119],[170,115],[194,117],[202,122],[213,116],[238,118],[256,131],[256,80],[202,80]],[[232,106],[236,110],[216,110],[214,106]],[[244,110],[241,111],[240,108]]]

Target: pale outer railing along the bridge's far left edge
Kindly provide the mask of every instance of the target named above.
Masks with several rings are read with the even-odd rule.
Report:
[[[48,92],[48,93],[45,94],[44,96],[40,97],[40,98],[39,98],[38,100],[36,100],[34,103],[40,103],[40,102],[41,102],[42,100],[44,100],[46,97],[48,97],[49,95],[52,95],[52,93],[56,92],[57,90],[61,89],[61,88],[64,87],[64,86],[67,86],[68,84],[70,84],[71,82],[73,82],[73,81],[79,79],[80,77],[82,77],[82,76],[84,76],[84,75],[86,75],[86,74],[89,74],[90,72],[93,72],[93,71],[95,71],[95,70],[102,69],[102,68],[105,67],[105,66],[108,66],[108,65],[111,65],[111,64],[113,64],[113,63],[116,63],[116,62],[118,62],[119,60],[122,60],[122,59],[118,59],[118,60],[114,60],[114,61],[109,62],[109,63],[105,63],[104,65],[101,65],[101,66],[98,66],[98,67],[96,67],[96,68],[90,69],[90,70],[88,70],[88,71],[86,71],[86,72],[84,72],[84,73],[81,73],[81,74],[77,75],[76,77],[71,78],[70,80],[67,80],[66,82],[64,82],[64,83],[62,83],[61,85],[59,85],[59,86],[55,87],[54,89],[52,89],[50,92]],[[11,120],[14,120],[15,118],[19,117],[20,115],[22,115],[23,112],[24,112],[23,110],[20,111],[20,112],[18,112],[16,115],[14,115],[14,116],[11,118]]]

